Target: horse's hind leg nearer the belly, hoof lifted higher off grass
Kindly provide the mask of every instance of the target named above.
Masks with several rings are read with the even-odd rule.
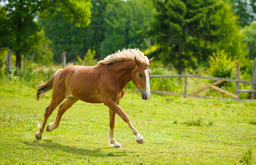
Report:
[[[63,104],[60,105],[60,107],[58,108],[58,113],[57,113],[55,122],[49,123],[48,127],[46,128],[46,131],[52,131],[58,128],[58,124],[60,123],[62,115],[67,111],[68,108],[70,108],[77,101],[78,101],[77,98],[67,97],[66,101],[63,102]]]

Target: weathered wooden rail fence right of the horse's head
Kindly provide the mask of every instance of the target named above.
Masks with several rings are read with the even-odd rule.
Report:
[[[252,81],[247,81],[247,80],[242,80],[240,79],[240,64],[239,62],[237,62],[237,67],[236,67],[236,79],[228,79],[228,78],[217,78],[217,77],[211,77],[211,76],[202,76],[202,75],[194,75],[194,74],[187,74],[187,72],[185,72],[185,74],[179,74],[179,75],[151,75],[151,78],[185,78],[185,86],[184,86],[184,96],[196,96],[197,94],[199,94],[202,91],[205,91],[207,89],[209,89],[210,87],[213,89],[216,89],[218,91],[221,91],[227,95],[230,95],[234,98],[239,99],[239,95],[241,92],[250,92],[252,93],[251,98],[254,99],[255,96],[255,78],[256,78],[256,64],[255,62],[253,62],[253,73],[252,73]],[[187,92],[187,79],[188,78],[199,78],[199,79],[208,79],[208,80],[215,80],[216,82],[209,84],[205,87],[203,87],[202,89],[195,91],[191,94],[188,94]],[[217,87],[216,85],[221,84],[224,81],[233,81],[236,82],[236,94],[232,94],[231,92],[228,92],[226,90],[221,89],[220,87]],[[240,89],[240,83],[243,84],[252,84],[252,89]],[[167,92],[167,91],[152,91],[152,93],[156,93],[156,94],[173,94],[173,92]]]

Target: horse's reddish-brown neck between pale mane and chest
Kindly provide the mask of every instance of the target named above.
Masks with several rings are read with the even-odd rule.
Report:
[[[131,81],[132,69],[135,67],[135,61],[123,61],[111,65],[111,73],[116,77],[120,90],[124,89],[125,85]]]

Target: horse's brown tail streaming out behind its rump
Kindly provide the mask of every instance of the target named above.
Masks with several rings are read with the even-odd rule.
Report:
[[[61,71],[61,69],[58,69],[52,76],[51,78],[44,83],[42,81],[42,84],[38,86],[38,89],[36,90],[35,94],[35,98],[39,101],[40,98],[42,97],[42,95],[47,94],[48,91],[50,91],[53,87],[54,87],[54,79],[56,77],[56,75]]]

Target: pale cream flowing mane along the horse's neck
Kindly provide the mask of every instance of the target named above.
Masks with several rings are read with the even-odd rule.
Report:
[[[135,60],[134,57],[138,59],[142,64],[150,65],[150,62],[148,61],[147,56],[144,56],[144,53],[142,53],[138,48],[135,49],[123,49],[122,51],[117,51],[114,54],[110,54],[109,56],[106,56],[103,60],[100,60],[99,64],[112,64],[120,61],[127,61],[127,60]]]

